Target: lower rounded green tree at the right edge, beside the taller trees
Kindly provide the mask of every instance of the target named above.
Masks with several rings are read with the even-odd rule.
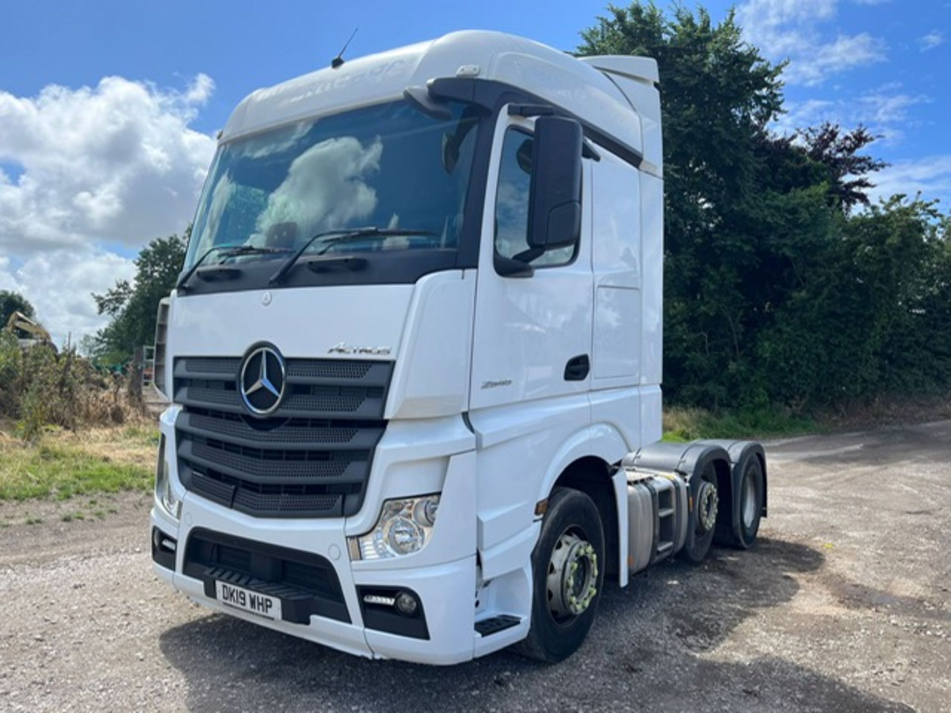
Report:
[[[841,222],[758,339],[772,395],[846,402],[951,386],[951,241],[932,203],[895,197]]]

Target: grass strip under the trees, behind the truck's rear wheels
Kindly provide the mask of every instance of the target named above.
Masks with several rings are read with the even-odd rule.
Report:
[[[815,434],[825,427],[812,418],[773,409],[714,414],[706,409],[668,407],[664,410],[664,440],[696,438],[779,438]]]

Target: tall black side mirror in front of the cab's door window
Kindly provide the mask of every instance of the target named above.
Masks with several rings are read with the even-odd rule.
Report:
[[[535,120],[529,194],[530,248],[567,247],[581,235],[581,125],[559,116]]]

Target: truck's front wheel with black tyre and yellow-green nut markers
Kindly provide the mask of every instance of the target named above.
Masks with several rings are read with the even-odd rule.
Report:
[[[594,621],[606,565],[604,530],[592,499],[555,488],[532,552],[532,625],[514,649],[550,664],[571,656]]]

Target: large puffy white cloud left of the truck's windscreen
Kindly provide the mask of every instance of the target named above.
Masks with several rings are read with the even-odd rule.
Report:
[[[106,77],[0,91],[0,164],[13,167],[0,171],[0,288],[57,338],[102,326],[89,293],[131,276],[105,245],[134,250],[190,220],[215,145],[190,124],[213,89],[199,74],[184,90]]]

